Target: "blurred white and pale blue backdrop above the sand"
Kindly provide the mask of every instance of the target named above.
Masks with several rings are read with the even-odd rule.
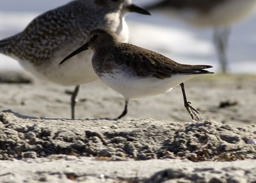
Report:
[[[134,0],[145,6],[157,0]],[[22,31],[40,13],[68,3],[68,0],[1,0],[0,39]],[[212,65],[220,70],[212,42],[212,29],[198,29],[161,12],[152,16],[127,15],[132,44],[152,49],[180,63]],[[228,40],[228,72],[256,72],[256,16],[234,24]],[[20,70],[17,61],[0,54],[0,70]]]

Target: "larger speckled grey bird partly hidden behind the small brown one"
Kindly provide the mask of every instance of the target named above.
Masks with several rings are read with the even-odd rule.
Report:
[[[0,41],[0,53],[19,61],[40,79],[63,86],[76,85],[71,97],[71,117],[75,118],[79,84],[97,79],[92,68],[92,51],[72,58],[74,63],[59,66],[68,53],[83,45],[88,33],[97,27],[110,28],[128,42],[125,15],[150,13],[131,0],[75,0],[34,19],[24,31]]]

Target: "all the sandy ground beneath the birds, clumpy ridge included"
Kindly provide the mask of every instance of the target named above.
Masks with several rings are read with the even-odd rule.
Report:
[[[134,100],[84,85],[77,120],[70,92],[24,72],[0,74],[0,182],[253,182],[256,76],[185,83],[204,118],[191,120],[180,87]]]

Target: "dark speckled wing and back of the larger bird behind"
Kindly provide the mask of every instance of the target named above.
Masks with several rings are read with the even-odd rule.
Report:
[[[88,28],[81,28],[81,25],[86,26],[83,23],[86,22],[84,20],[86,13],[88,11],[84,10],[84,6],[81,6],[79,1],[72,1],[39,15],[24,31],[4,40],[12,44],[12,49],[6,54],[18,54],[17,57],[21,60],[39,62],[52,58],[60,49],[65,51],[66,45],[73,49],[79,47],[86,39],[88,31],[95,26],[93,23],[88,23]]]

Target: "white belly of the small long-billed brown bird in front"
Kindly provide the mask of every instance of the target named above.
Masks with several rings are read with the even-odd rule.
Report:
[[[100,79],[110,88],[120,93],[125,99],[150,97],[169,92],[173,87],[196,75],[177,75],[166,79],[139,78],[124,72],[103,74]]]

